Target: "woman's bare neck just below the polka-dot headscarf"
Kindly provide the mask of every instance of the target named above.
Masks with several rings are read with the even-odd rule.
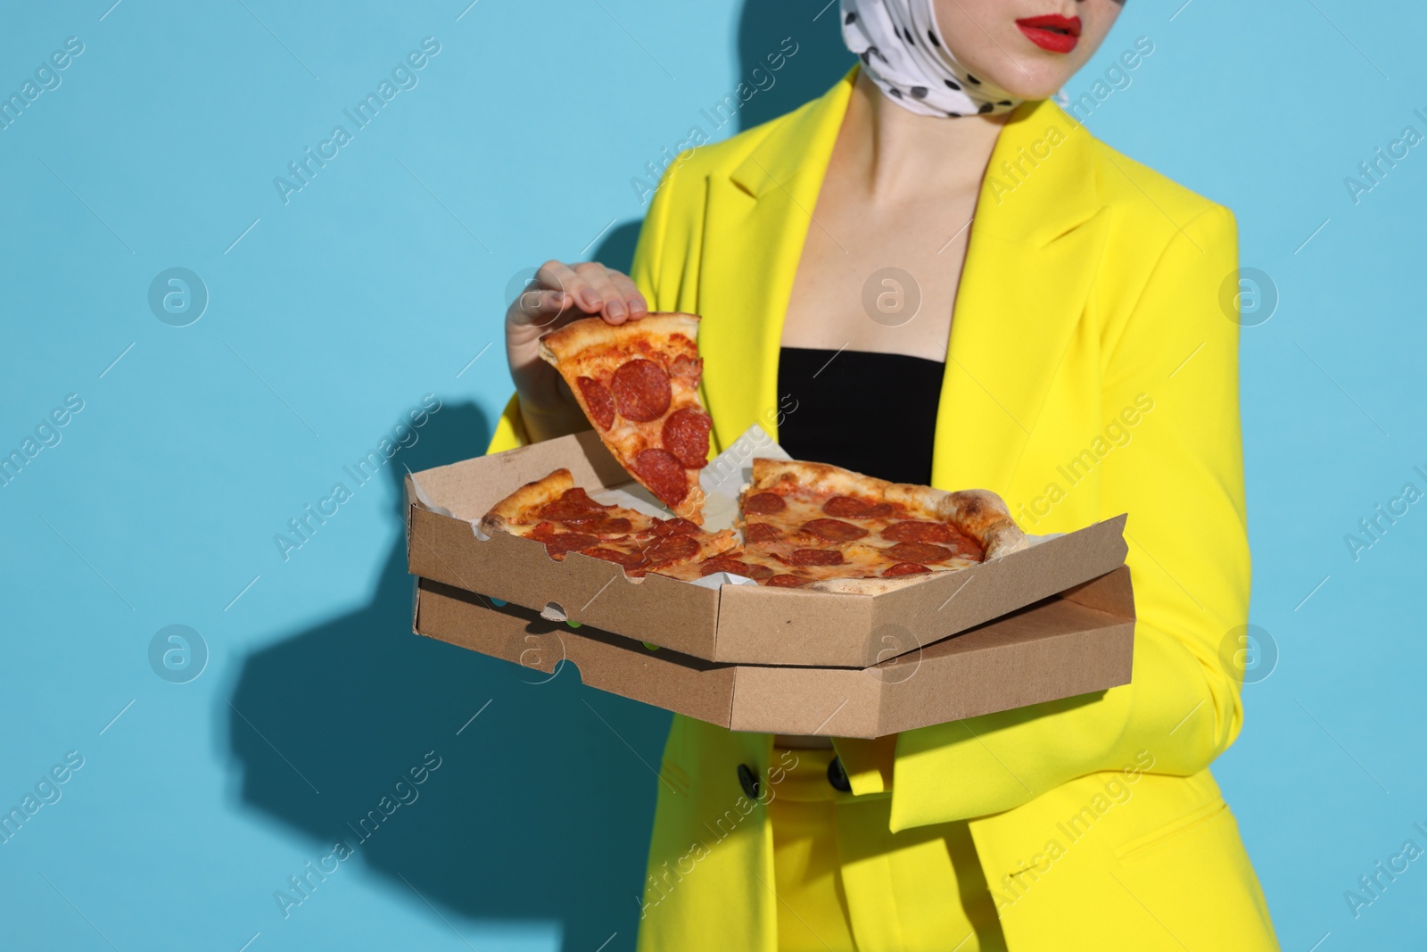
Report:
[[[889,100],[859,71],[842,124],[850,167],[869,194],[925,198],[979,188],[1010,114],[942,118]]]

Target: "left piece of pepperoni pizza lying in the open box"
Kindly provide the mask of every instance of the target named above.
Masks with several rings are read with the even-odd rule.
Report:
[[[632,578],[732,548],[732,530],[705,532],[689,520],[661,520],[638,510],[605,505],[575,485],[569,470],[527,482],[481,518],[487,534],[535,540],[555,561],[582,552],[615,562]]]

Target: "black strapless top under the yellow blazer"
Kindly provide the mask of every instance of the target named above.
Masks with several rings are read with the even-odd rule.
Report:
[[[930,485],[945,368],[905,354],[783,347],[778,442],[795,460]]]

